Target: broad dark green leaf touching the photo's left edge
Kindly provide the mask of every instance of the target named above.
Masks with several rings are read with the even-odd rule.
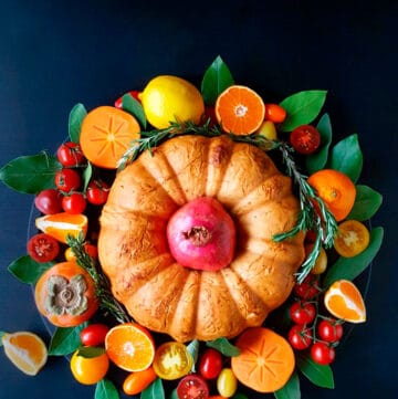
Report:
[[[18,157],[0,169],[0,180],[23,193],[38,193],[53,188],[61,164],[46,153]]]

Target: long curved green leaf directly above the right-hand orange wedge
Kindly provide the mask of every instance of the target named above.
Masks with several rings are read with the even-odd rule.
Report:
[[[354,280],[374,260],[383,242],[384,229],[375,228],[370,231],[370,242],[368,248],[354,258],[338,258],[337,261],[327,270],[323,281],[323,286],[327,288],[337,280]]]

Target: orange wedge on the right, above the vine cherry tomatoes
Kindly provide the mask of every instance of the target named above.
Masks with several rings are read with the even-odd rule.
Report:
[[[350,323],[366,322],[364,298],[357,286],[348,280],[334,282],[325,292],[325,306],[332,315]]]

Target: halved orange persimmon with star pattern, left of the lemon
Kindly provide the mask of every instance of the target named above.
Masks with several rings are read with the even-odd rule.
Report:
[[[139,138],[137,119],[115,107],[100,106],[83,119],[80,145],[84,156],[95,166],[116,169],[123,154]]]

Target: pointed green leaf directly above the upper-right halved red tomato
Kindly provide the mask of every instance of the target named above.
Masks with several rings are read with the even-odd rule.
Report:
[[[287,117],[281,126],[282,132],[292,132],[313,122],[325,103],[326,94],[326,91],[312,90],[292,94],[283,99],[280,105],[286,111]]]

